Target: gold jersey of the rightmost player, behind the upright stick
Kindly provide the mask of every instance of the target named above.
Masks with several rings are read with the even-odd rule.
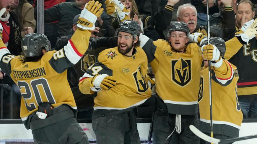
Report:
[[[223,60],[220,68],[212,67],[212,120],[215,134],[238,137],[243,114],[237,96],[237,68]],[[199,89],[199,129],[210,133],[208,68],[201,71]]]

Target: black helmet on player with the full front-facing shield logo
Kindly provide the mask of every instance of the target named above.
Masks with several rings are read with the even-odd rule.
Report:
[[[186,33],[186,35],[189,37],[190,31],[189,28],[187,26],[187,24],[185,22],[174,22],[170,25],[170,27],[168,28],[168,34],[167,37],[170,36],[170,33],[173,31],[183,31]]]

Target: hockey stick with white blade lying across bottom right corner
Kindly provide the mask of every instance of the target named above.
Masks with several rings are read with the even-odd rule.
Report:
[[[214,144],[225,144],[225,143],[233,143],[235,141],[240,141],[240,140],[248,140],[252,138],[257,138],[257,135],[248,135],[244,137],[239,137],[239,138],[230,138],[230,139],[225,139],[225,140],[220,140],[217,138],[212,138],[203,132],[201,132],[199,129],[197,129],[194,125],[190,125],[189,129],[197,135],[199,138],[209,142],[209,143],[214,143]]]

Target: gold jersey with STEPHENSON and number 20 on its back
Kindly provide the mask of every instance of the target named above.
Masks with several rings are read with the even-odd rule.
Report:
[[[0,70],[20,89],[22,121],[26,121],[42,102],[50,102],[53,107],[68,104],[77,110],[67,81],[67,68],[76,64],[86,52],[90,35],[91,31],[78,29],[61,50],[49,51],[39,61],[25,63],[23,56],[10,54],[0,40]]]

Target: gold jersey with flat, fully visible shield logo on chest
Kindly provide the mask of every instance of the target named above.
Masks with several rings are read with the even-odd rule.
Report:
[[[168,113],[196,114],[202,63],[199,46],[190,43],[185,53],[176,53],[165,40],[152,41],[144,35],[139,38],[154,71],[156,92],[167,105]]]

